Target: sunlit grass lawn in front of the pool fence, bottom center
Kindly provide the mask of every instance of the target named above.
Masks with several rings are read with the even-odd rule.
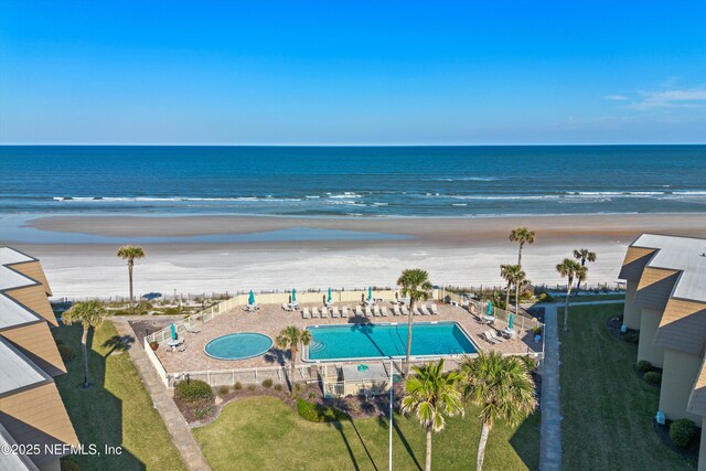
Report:
[[[474,469],[480,436],[478,409],[448,420],[434,436],[436,470]],[[485,454],[485,470],[537,469],[539,414],[517,429],[495,425]],[[224,407],[218,419],[193,430],[215,470],[387,469],[386,418],[313,424],[274,397],[250,397]],[[424,469],[425,433],[414,418],[395,415],[394,468]]]

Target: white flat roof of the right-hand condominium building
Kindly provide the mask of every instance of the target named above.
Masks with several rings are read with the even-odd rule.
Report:
[[[672,298],[706,302],[706,239],[642,234],[631,247],[656,249],[646,267],[681,271]]]

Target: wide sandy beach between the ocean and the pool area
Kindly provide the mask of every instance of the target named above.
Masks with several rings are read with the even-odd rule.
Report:
[[[52,216],[29,220],[23,231],[46,240],[2,243],[41,258],[57,297],[125,295],[127,270],[115,256],[122,243],[140,237],[183,242],[141,244],[138,293],[392,286],[400,270],[420,267],[437,285],[501,285],[500,264],[516,263],[517,246],[507,240],[513,227],[537,234],[525,246],[523,265],[535,282],[558,283],[555,265],[574,248],[598,254],[589,282],[614,286],[625,247],[644,232],[706,235],[703,214],[580,215],[489,218],[286,218],[240,216]],[[197,236],[259,234],[290,228],[404,235],[406,239],[275,240],[203,243]],[[77,235],[110,237],[109,243],[71,243]],[[355,233],[353,233],[355,234]]]

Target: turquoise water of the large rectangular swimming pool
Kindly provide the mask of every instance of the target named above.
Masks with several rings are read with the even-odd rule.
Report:
[[[340,324],[307,328],[311,332],[309,361],[405,356],[407,323]],[[475,353],[456,322],[417,322],[411,329],[411,355]]]

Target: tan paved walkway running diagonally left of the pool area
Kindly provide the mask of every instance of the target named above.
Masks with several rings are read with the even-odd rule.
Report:
[[[130,329],[130,325],[128,325],[125,319],[113,318],[111,320],[118,330],[118,334],[121,336],[135,336],[135,332],[132,332],[132,329]],[[162,420],[164,420],[167,430],[169,431],[169,435],[171,435],[176,449],[181,453],[186,469],[194,471],[210,470],[211,467],[208,467],[208,463],[201,451],[201,447],[199,447],[199,443],[196,443],[196,440],[194,440],[194,437],[191,435],[191,429],[189,428],[186,420],[184,420],[184,416],[181,415],[179,408],[167,393],[164,383],[160,381],[154,367],[150,364],[149,358],[145,354],[142,346],[138,345],[137,342],[132,343],[128,352],[130,354],[130,360],[132,360],[135,367],[140,374],[140,378],[142,378],[142,384],[147,387],[147,390],[154,403],[154,408],[162,417]]]

